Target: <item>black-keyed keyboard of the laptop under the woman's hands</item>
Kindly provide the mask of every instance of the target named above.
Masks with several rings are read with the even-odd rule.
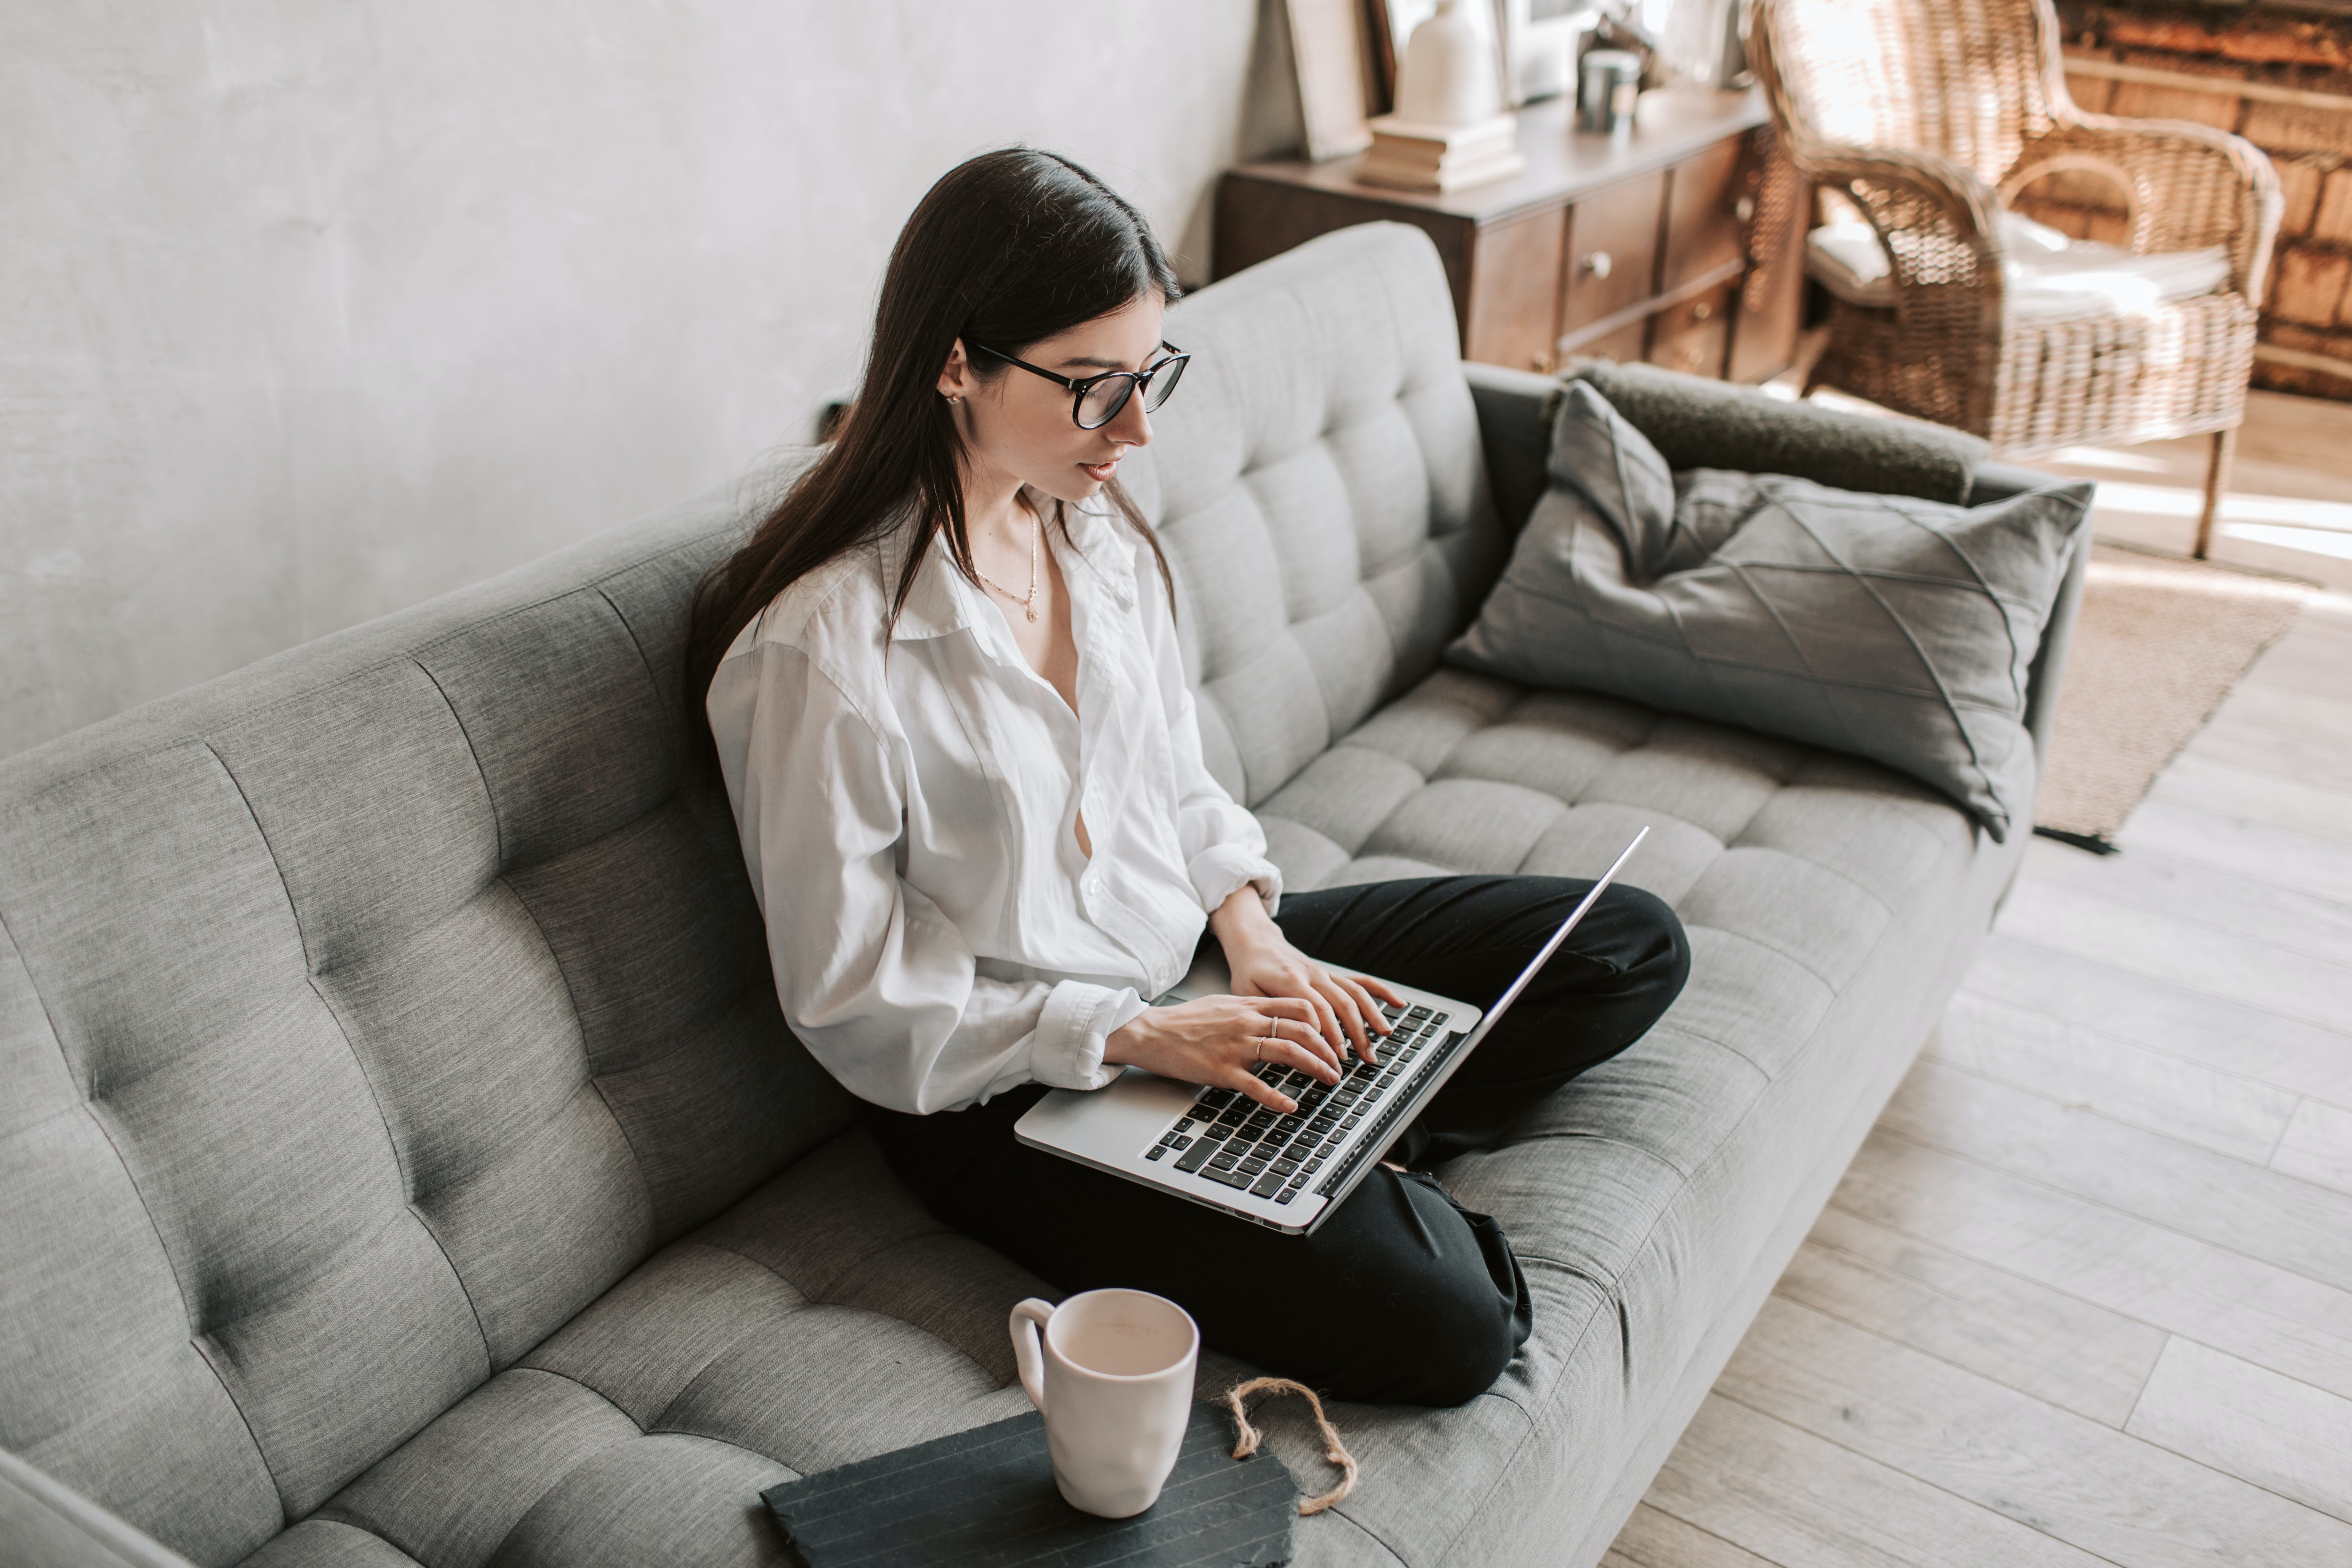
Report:
[[[1279,1088],[1298,1103],[1289,1117],[1258,1105],[1232,1088],[1202,1088],[1160,1133],[1143,1159],[1174,1159],[1178,1171],[1204,1175],[1251,1197],[1289,1204],[1348,1143],[1355,1128],[1374,1121],[1381,1131],[1395,1119],[1406,1086],[1432,1060],[1446,1039],[1446,1018],[1425,1006],[1397,1009],[1381,1004],[1395,1027],[1374,1037],[1381,1063],[1348,1058],[1338,1084],[1324,1084],[1298,1067],[1265,1063],[1258,1081]],[[1385,1114],[1383,1114],[1385,1112]],[[1364,1143],[1369,1147],[1369,1140]],[[1324,1187],[1352,1171],[1362,1159],[1355,1150],[1345,1168],[1324,1178]]]

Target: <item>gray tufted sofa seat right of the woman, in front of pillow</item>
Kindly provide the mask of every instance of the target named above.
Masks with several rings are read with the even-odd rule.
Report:
[[[1602,1493],[1581,1488],[1613,1481],[1773,1222],[1844,1166],[1837,1138],[1900,1067],[1886,1039],[1980,929],[2016,846],[1987,849],[1872,762],[1468,670],[1423,679],[1258,816],[1298,889],[1592,877],[1651,827],[1625,879],[1682,917],[1684,994],[1439,1173],[1503,1222],[1536,1333],[1463,1410],[1341,1406],[1367,1474],[1341,1512],[1381,1547],[1301,1530],[1301,1561],[1498,1561],[1552,1540],[1536,1507],[1583,1530]],[[1531,1495],[1496,1502],[1515,1490]]]

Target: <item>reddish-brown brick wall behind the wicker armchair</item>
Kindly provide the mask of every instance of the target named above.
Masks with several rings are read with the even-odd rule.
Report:
[[[2074,101],[2107,115],[2197,120],[2270,153],[2286,219],[2263,303],[2263,343],[2352,371],[2352,16],[2291,7],[2060,0],[2067,56],[2211,80],[2159,85],[2067,71]],[[2096,68],[2096,66],[2093,66]],[[2246,85],[2324,94],[2343,108],[2249,96]],[[2067,233],[2117,240],[2124,205],[2096,176],[2037,183],[2018,207]],[[2352,376],[2256,360],[2253,383],[2352,400]]]

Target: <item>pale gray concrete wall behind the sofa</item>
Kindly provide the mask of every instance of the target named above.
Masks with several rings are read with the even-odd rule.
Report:
[[[0,755],[807,440],[976,150],[1197,280],[1270,47],[1258,0],[0,7]]]

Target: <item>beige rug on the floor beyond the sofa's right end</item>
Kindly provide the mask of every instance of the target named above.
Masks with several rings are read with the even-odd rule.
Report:
[[[2112,849],[2157,771],[2293,625],[2314,588],[2093,545],[2034,830]]]

